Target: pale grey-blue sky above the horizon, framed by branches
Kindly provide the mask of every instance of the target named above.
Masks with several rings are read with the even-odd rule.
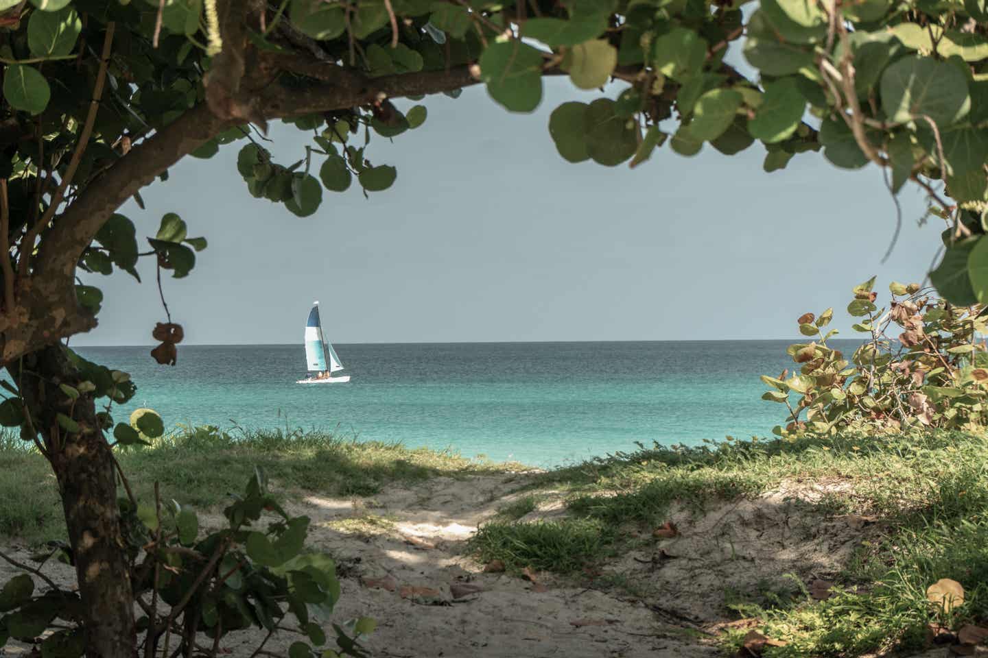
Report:
[[[926,202],[912,185],[880,262],[896,212],[873,166],[848,172],[810,152],[766,174],[758,142],[733,157],[666,146],[634,170],[564,161],[549,112],[600,96],[546,79],[531,114],[480,86],[429,97],[421,127],[371,139],[371,162],[398,169],[390,189],[324,190],[307,218],[250,196],[235,167],[243,141],[186,158],[142,190],[146,210],[122,212],[138,237],[177,212],[207,238],[188,277],[162,279],[191,344],[300,342],[313,300],[335,343],[796,338],[798,316],[831,306],[848,337],[855,284],[877,274],[887,291],[929,269],[943,227],[918,224]],[[288,165],[310,135],[275,124],[268,146]],[[151,344],[165,314],[153,261],[138,269],[143,284],[86,277],[103,311],[73,344]]]

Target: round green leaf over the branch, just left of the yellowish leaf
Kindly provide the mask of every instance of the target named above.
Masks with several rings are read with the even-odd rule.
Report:
[[[491,98],[511,111],[532,111],[542,99],[542,55],[511,39],[491,43],[480,55],[480,80]]]

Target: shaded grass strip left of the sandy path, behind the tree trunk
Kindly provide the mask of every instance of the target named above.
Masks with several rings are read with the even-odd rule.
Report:
[[[54,476],[34,449],[13,435],[0,435],[0,536],[28,544],[63,538]],[[370,496],[390,482],[414,483],[436,476],[466,477],[503,472],[499,465],[452,451],[358,442],[327,432],[283,430],[223,432],[215,427],[180,429],[150,448],[129,448],[118,460],[138,500],[162,496],[208,508],[224,504],[261,467],[276,492],[288,495]]]

